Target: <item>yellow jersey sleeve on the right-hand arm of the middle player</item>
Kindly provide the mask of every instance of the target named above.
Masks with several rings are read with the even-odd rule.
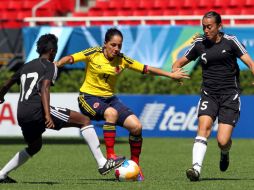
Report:
[[[123,55],[122,60],[123,60],[123,65],[125,68],[129,68],[131,70],[134,70],[143,74],[147,72],[146,71],[147,66],[134,59],[131,59]]]

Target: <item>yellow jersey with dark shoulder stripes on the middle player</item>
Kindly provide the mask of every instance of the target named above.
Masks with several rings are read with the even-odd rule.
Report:
[[[80,92],[109,97],[114,94],[117,78],[126,69],[145,73],[147,66],[126,57],[122,53],[109,61],[103,54],[102,47],[88,48],[71,55],[73,63],[86,63],[85,80]]]

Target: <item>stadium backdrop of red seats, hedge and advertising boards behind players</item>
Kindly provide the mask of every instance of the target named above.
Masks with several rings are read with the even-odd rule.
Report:
[[[223,31],[236,35],[254,58],[254,0],[0,0],[0,85],[25,62],[36,57],[36,41],[45,33],[59,38],[56,60],[88,47],[103,45],[108,28],[124,35],[122,52],[141,63],[170,71],[172,63],[202,34],[202,16],[222,15]],[[239,61],[239,60],[238,60]],[[241,68],[242,110],[235,137],[253,138],[253,76]],[[77,96],[84,79],[84,63],[59,71],[52,88],[52,105],[78,110]],[[139,117],[147,137],[192,137],[197,128],[196,106],[201,68],[196,62],[186,70],[191,80],[179,86],[173,80],[126,71],[116,93]],[[14,86],[0,105],[0,136],[20,136],[16,120],[19,87]],[[101,127],[101,122],[94,123]],[[119,136],[128,135],[119,128]],[[216,134],[216,124],[213,136]],[[97,130],[101,135],[101,130]],[[78,136],[74,129],[49,136]]]

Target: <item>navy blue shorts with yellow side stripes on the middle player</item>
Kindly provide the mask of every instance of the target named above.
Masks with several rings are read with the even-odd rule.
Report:
[[[116,96],[100,97],[81,93],[78,97],[81,112],[92,120],[104,120],[104,112],[113,107],[118,112],[117,125],[123,126],[125,119],[133,112],[126,107]]]

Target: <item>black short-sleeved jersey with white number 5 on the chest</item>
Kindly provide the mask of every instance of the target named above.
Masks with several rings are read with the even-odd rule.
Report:
[[[221,41],[212,43],[197,38],[185,53],[188,60],[199,58],[202,65],[202,89],[211,94],[240,93],[237,58],[247,53],[235,36],[222,33]]]

